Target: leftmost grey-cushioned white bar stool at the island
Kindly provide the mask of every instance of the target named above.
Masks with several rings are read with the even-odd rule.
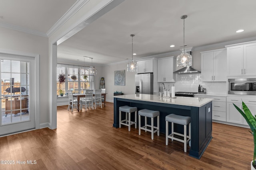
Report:
[[[122,120],[122,111],[125,112],[125,119]],[[131,113],[135,112],[135,121],[131,121]],[[128,113],[128,119],[127,119]],[[137,107],[130,106],[120,106],[119,107],[119,127],[121,125],[128,126],[128,131],[131,131],[131,125],[135,124],[135,128],[137,128]]]

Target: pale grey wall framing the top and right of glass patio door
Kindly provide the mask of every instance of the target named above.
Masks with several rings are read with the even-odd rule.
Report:
[[[40,124],[48,122],[48,38],[0,27],[0,48],[40,55]]]

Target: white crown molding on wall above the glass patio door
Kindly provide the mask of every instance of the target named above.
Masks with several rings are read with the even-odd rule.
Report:
[[[22,31],[22,32],[25,32],[25,33],[30,33],[30,34],[39,35],[41,37],[47,37],[48,38],[46,33],[43,33],[43,32],[40,32],[40,31],[36,31],[36,30],[33,30],[33,29],[28,29],[28,28],[20,27],[20,26],[17,26],[17,25],[12,25],[12,24],[9,24],[9,23],[0,22],[0,27],[14,29],[16,31]]]

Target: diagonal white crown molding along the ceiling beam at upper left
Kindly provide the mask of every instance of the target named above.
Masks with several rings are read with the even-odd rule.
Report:
[[[69,20],[78,10],[80,10],[90,0],[78,0],[61,18],[58,20],[46,33],[50,37],[56,30],[58,30],[67,20]]]

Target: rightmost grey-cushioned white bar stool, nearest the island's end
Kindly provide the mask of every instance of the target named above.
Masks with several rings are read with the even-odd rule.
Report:
[[[165,117],[166,121],[166,145],[168,145],[168,138],[184,143],[184,152],[187,152],[187,144],[191,138],[191,123],[189,116],[181,116],[176,114],[170,114]],[[168,135],[168,122],[172,122],[172,133]],[[184,134],[174,132],[174,123],[184,125]],[[188,136],[187,136],[187,125],[188,125]],[[183,140],[174,135],[183,137]],[[188,139],[187,139],[188,138]]]

